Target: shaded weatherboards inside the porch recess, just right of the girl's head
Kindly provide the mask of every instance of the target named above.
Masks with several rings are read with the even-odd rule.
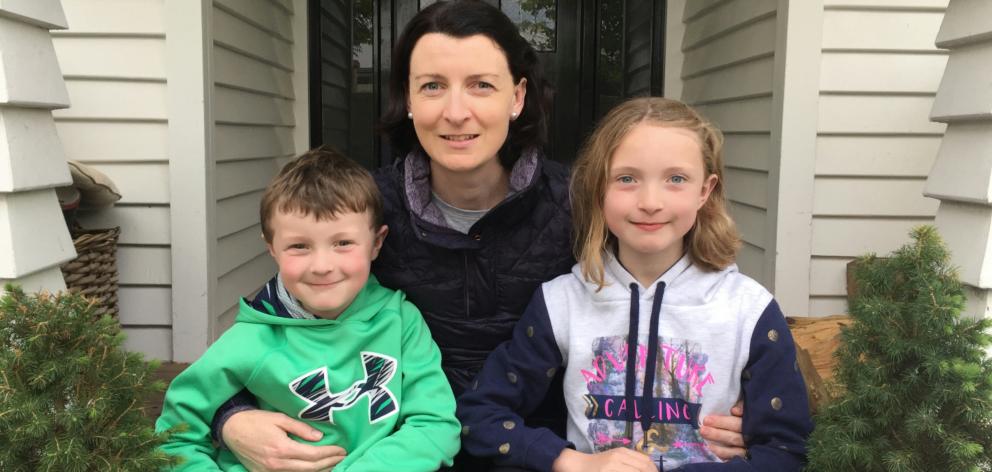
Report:
[[[723,130],[727,197],[744,239],[738,264],[766,285],[777,10],[776,0],[692,0],[682,15],[681,99]]]

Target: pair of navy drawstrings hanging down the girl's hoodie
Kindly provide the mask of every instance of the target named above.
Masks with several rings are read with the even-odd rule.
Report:
[[[654,374],[655,364],[658,362],[658,325],[661,321],[661,301],[665,297],[665,282],[658,282],[654,292],[654,301],[651,304],[651,324],[648,331],[648,357],[644,364],[644,390],[641,398],[643,407],[646,409],[641,418],[641,431],[646,432],[651,428],[651,407],[654,403]],[[627,329],[627,383],[625,385],[625,397],[627,400],[627,427],[624,435],[633,441],[633,411],[635,411],[634,390],[636,385],[637,371],[637,327],[640,324],[640,295],[637,284],[630,284],[630,326]]]

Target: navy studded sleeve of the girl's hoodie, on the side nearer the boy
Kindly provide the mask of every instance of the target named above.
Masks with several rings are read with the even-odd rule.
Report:
[[[573,446],[547,428],[528,427],[523,417],[544,399],[561,365],[544,291],[538,288],[513,337],[489,354],[458,399],[462,447],[497,465],[551,470],[561,451]]]

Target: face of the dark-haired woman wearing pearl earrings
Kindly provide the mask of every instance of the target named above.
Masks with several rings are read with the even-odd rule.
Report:
[[[483,35],[429,33],[410,55],[409,110],[432,167],[499,172],[496,153],[523,110],[526,79],[513,82],[506,55]]]

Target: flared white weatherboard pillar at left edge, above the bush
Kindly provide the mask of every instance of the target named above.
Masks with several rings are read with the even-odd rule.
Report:
[[[49,30],[65,24],[58,0],[0,0],[0,292],[62,290],[76,255],[54,190],[71,182],[52,123],[69,98]]]

